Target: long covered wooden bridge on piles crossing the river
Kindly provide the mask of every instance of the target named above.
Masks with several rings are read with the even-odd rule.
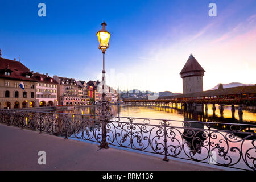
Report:
[[[232,113],[235,111],[234,105],[238,105],[238,114],[240,115],[240,121],[242,121],[242,107],[256,106],[256,85],[163,96],[154,100],[151,100],[150,97],[124,99],[123,102],[133,105],[152,105],[161,107],[174,107],[175,104],[176,108],[180,103],[181,109],[196,112],[203,112],[205,109],[206,113],[208,110],[207,105],[212,104],[213,113],[215,113],[215,104],[218,104],[220,105],[219,109],[221,114],[223,114],[224,105],[231,105]]]

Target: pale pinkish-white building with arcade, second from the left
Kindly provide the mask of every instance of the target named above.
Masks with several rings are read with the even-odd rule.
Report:
[[[36,105],[39,107],[57,106],[57,85],[58,83],[46,73],[34,73],[36,84]]]

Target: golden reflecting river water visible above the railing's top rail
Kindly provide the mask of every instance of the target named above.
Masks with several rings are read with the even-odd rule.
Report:
[[[172,119],[172,120],[189,120],[189,121],[212,121],[215,122],[234,122],[238,123],[238,106],[235,106],[234,118],[232,118],[231,106],[224,106],[224,117],[221,118],[220,110],[216,104],[215,117],[213,117],[212,105],[208,105],[208,115],[205,113],[188,113],[180,109],[163,108],[158,106],[133,106],[133,105],[113,105],[112,113],[114,116],[121,117],[138,117],[138,118],[154,118],[154,119]],[[96,107],[79,107],[75,109],[57,111],[61,113],[72,114],[96,114]],[[201,117],[201,118],[200,118]],[[214,118],[214,119],[213,119]],[[256,122],[256,107],[243,108],[243,122]]]

